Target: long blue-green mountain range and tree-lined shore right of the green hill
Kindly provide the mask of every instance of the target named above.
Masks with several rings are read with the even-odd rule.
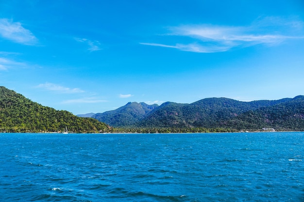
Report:
[[[166,102],[161,106],[144,106],[128,103],[116,110],[98,113],[93,118],[115,126],[116,132],[304,130],[304,96],[252,102],[206,98],[192,104]]]

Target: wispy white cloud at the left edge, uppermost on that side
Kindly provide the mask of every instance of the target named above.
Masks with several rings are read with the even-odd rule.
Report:
[[[31,31],[22,27],[21,23],[6,18],[0,19],[0,36],[24,45],[35,45],[38,41]]]

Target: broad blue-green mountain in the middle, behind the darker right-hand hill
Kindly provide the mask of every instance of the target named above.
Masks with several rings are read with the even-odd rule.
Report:
[[[139,126],[219,127],[220,123],[249,110],[269,107],[290,99],[241,102],[229,98],[206,98],[192,104],[164,103],[142,119]]]

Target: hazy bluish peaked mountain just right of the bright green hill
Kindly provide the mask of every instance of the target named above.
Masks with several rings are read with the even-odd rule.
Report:
[[[92,118],[114,127],[133,126],[157,107],[157,104],[129,102],[118,109],[97,113]]]

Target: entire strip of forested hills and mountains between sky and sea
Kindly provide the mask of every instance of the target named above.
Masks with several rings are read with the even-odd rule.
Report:
[[[252,102],[206,98],[191,104],[166,102],[160,106],[129,102],[93,118],[44,107],[0,87],[0,132],[62,132],[66,126],[74,133],[237,132],[267,128],[304,131],[304,96]]]

